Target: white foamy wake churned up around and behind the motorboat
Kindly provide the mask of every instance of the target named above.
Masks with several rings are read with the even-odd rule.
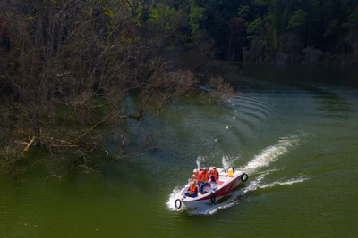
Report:
[[[304,133],[300,133],[299,135],[286,135],[285,137],[281,137],[277,144],[271,145],[260,152],[260,154],[255,155],[246,166],[239,168],[239,170],[245,171],[250,176],[249,181],[244,186],[241,186],[239,189],[230,193],[228,198],[224,201],[211,205],[204,204],[196,209],[185,209],[185,211],[187,211],[190,215],[211,215],[220,209],[227,209],[240,203],[242,200],[239,200],[239,197],[246,194],[248,195],[258,189],[267,189],[280,185],[294,185],[309,179],[309,177],[306,176],[298,176],[288,180],[277,180],[269,183],[265,182],[266,176],[275,173],[280,169],[265,170],[264,168],[268,168],[268,166],[274,161],[277,161],[279,157],[294,150],[300,144],[300,140],[305,136],[306,134]],[[227,166],[228,162],[233,161],[232,159],[227,160],[227,158],[228,157],[223,157],[224,166]],[[176,196],[179,192],[180,187],[175,187],[173,192],[170,194],[168,201],[166,201],[168,209],[178,210],[175,209],[175,199],[177,198]],[[179,211],[183,210],[183,207],[179,209]]]

